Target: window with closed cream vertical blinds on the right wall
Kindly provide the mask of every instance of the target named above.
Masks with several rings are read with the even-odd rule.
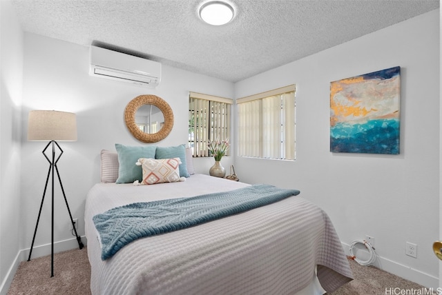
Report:
[[[237,99],[238,156],[295,160],[295,89]]]

